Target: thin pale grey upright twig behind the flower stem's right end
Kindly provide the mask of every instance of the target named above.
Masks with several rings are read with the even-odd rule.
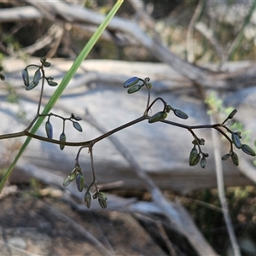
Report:
[[[214,121],[212,115],[210,116],[211,121]],[[217,175],[217,184],[218,184],[218,197],[221,203],[222,212],[224,214],[224,221],[227,226],[227,230],[230,236],[230,242],[233,248],[233,251],[236,256],[241,256],[240,248],[238,246],[238,242],[236,240],[235,231],[232,226],[232,222],[230,219],[229,208],[227,204],[227,200],[225,197],[224,190],[224,174],[223,174],[223,166],[221,162],[221,156],[219,152],[219,139],[217,131],[212,130],[212,142],[213,142],[213,151],[214,151],[214,160],[216,165],[216,175]]]

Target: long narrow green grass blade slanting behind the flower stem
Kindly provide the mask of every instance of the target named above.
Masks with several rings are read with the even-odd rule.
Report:
[[[70,80],[73,78],[73,75],[77,72],[79,69],[80,65],[84,61],[84,59],[87,57],[87,55],[90,53],[90,50],[93,48],[93,46],[96,44],[97,40],[100,38],[102,35],[102,32],[106,29],[108,26],[108,23],[110,20],[113,19],[113,16],[116,14],[118,11],[119,7],[121,4],[124,2],[124,0],[118,0],[115,5],[113,6],[113,9],[108,13],[107,17],[105,20],[102,21],[102,24],[98,27],[96,32],[93,34],[93,36],[90,38],[89,42],[84,46],[84,49],[80,52],[79,56],[77,59],[73,62],[72,67],[70,67],[69,71],[67,72],[66,76],[62,79],[61,84],[59,84],[58,88],[55,90],[55,93],[53,96],[50,97],[49,102],[46,104],[43,114],[49,113],[51,108],[54,107],[55,103],[58,101],[60,98],[62,92],[66,89],[67,84],[70,82]],[[32,127],[32,133],[36,133],[38,131],[38,128],[40,125],[42,125],[44,121],[44,117],[40,117],[35,125]],[[25,143],[21,146],[19,153],[16,155],[15,160],[13,163],[9,166],[8,171],[4,174],[1,182],[0,182],[0,194],[2,193],[3,187],[7,180],[9,179],[9,176],[11,172],[13,171],[14,167],[16,166],[18,160],[20,159],[20,156],[23,154],[25,151],[26,147],[28,144],[31,142],[32,137],[27,137]]]

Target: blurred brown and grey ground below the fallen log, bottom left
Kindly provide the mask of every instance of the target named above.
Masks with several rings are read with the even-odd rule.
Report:
[[[124,212],[74,211],[67,203],[31,195],[1,199],[1,255],[166,255],[135,218]]]

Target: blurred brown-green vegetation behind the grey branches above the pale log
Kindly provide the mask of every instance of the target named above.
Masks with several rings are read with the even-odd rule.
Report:
[[[68,2],[68,1],[67,1]],[[70,1],[93,9],[101,14],[108,13],[114,1]],[[241,61],[253,60],[256,55],[255,30],[256,15],[254,12],[255,1],[157,1],[144,0],[147,14],[154,22],[154,30],[159,39],[177,55],[187,58],[188,32],[192,32],[189,44],[192,44],[195,54],[195,63],[207,63],[209,61],[221,61],[223,55],[228,55],[227,60]],[[0,2],[0,8],[11,8],[19,4],[26,3],[17,1]],[[199,10],[195,15],[196,10]],[[131,20],[139,21],[139,15],[134,13],[129,1],[125,1],[119,10],[119,15]],[[211,32],[212,37],[217,40],[215,47],[207,38],[205,32],[195,24],[190,24],[194,16],[195,23],[201,23]],[[141,22],[142,21],[142,22]],[[191,27],[192,31],[188,31]],[[24,49],[39,38],[44,38],[52,22],[49,20],[34,20],[20,22],[7,22],[0,24],[0,58],[13,54]],[[204,29],[204,28],[203,28]],[[82,26],[72,26],[65,28],[65,36],[61,38],[61,43],[55,51],[54,57],[74,58],[84,45],[84,41],[90,38],[88,32],[84,32]],[[235,42],[236,41],[236,42]],[[236,43],[236,47],[232,44]],[[233,51],[228,53],[232,46]],[[221,49],[222,53],[217,53],[216,49]],[[32,55],[47,55],[50,45],[38,49]],[[101,40],[92,50],[90,58],[113,59],[125,61],[155,61],[148,56],[147,51],[138,46],[119,44],[118,40],[109,42]]]

